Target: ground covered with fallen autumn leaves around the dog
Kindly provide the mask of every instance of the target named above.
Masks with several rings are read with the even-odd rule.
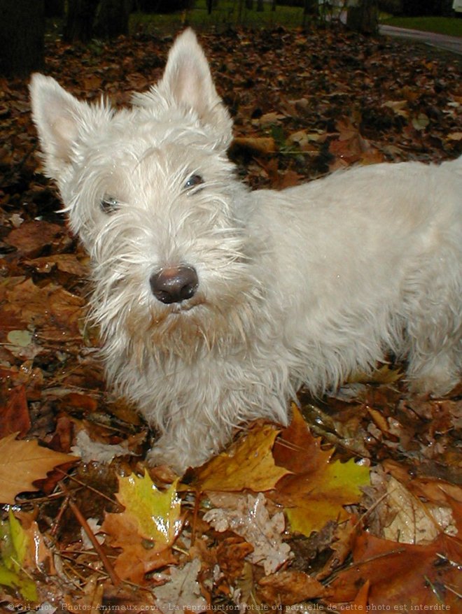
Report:
[[[332,31],[201,41],[252,187],[461,153],[455,57]],[[46,71],[119,105],[171,42],[49,42]],[[334,397],[301,391],[290,427],[252,424],[181,480],[146,471],[152,435],[106,392],[87,258],[38,174],[26,80],[0,83],[0,606],[461,611],[462,386],[414,397],[379,365]]]

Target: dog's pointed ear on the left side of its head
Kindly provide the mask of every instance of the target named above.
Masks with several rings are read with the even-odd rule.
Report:
[[[83,117],[88,105],[66,92],[55,79],[38,73],[32,75],[29,90],[45,172],[59,179],[71,162],[79,118]]]

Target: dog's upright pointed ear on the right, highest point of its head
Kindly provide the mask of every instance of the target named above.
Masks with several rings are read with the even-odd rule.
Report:
[[[216,92],[209,62],[192,29],[186,29],[176,38],[158,92],[173,99],[178,106],[192,108],[200,122],[214,128],[225,146],[229,145],[232,120]]]

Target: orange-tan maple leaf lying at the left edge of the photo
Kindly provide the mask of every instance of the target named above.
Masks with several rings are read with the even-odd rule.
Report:
[[[16,433],[0,440],[0,501],[14,504],[20,492],[38,490],[36,480],[64,463],[76,462],[75,456],[43,448],[36,441],[18,441]]]

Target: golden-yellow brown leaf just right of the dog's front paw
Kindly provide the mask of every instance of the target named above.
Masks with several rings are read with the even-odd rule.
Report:
[[[227,452],[211,459],[196,473],[197,490],[271,490],[290,471],[276,467],[272,447],[279,431],[270,424],[255,425]]]

